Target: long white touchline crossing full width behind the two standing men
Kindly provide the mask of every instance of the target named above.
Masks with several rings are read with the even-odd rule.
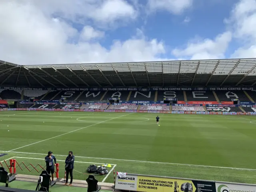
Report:
[[[0,151],[8,152],[8,151]],[[27,152],[12,152],[12,153],[23,153],[23,154],[34,154],[34,155],[46,155],[42,153],[27,153]],[[65,156],[66,155],[56,155],[54,156]],[[76,156],[77,158],[91,158],[91,159],[104,159],[104,160],[116,160],[116,161],[129,161],[129,162],[141,162],[141,163],[155,163],[155,164],[169,164],[169,165],[181,165],[181,166],[195,166],[195,167],[209,167],[209,168],[221,168],[221,169],[236,169],[236,170],[249,170],[256,171],[256,169],[246,169],[246,168],[233,168],[233,167],[220,167],[220,166],[209,166],[209,165],[192,165],[192,164],[180,164],[180,163],[168,163],[168,162],[154,162],[154,161],[140,161],[140,160],[127,160],[127,159],[113,159],[113,158],[99,158],[99,157],[82,157]]]

